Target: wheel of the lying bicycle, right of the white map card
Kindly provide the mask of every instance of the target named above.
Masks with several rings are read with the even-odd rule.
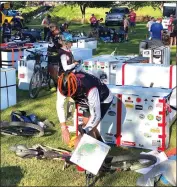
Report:
[[[103,167],[108,170],[129,171],[146,168],[154,165],[157,158],[153,155],[120,155],[107,157]]]

